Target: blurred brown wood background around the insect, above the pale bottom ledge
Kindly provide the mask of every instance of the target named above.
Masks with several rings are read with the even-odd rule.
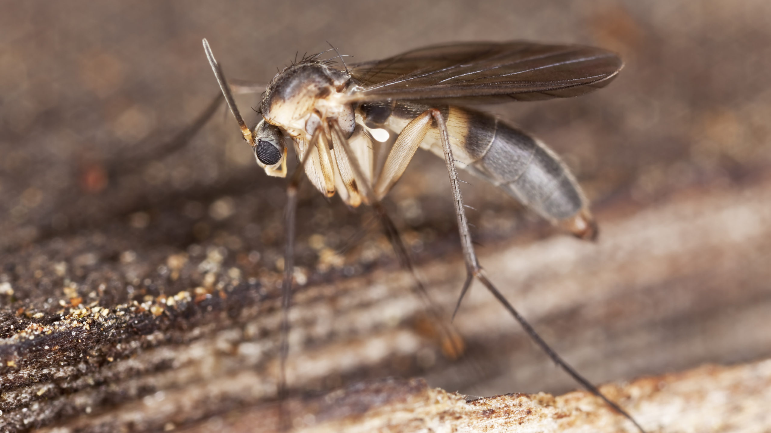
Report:
[[[227,76],[257,82],[327,41],[352,61],[462,40],[618,52],[626,66],[606,89],[489,108],[564,156],[594,203],[601,241],[568,239],[465,176],[483,264],[593,381],[771,354],[769,2],[0,9],[0,422],[9,431],[176,428],[274,399],[284,182],[261,173],[222,110],[190,143],[170,141],[218,92],[204,37]],[[250,123],[257,101],[238,98]],[[449,308],[463,267],[443,162],[416,157],[388,206]],[[368,210],[328,203],[306,185],[298,219],[308,284],[293,315],[296,394],[385,375],[477,395],[576,387],[481,287],[456,321],[468,353],[443,357]],[[195,299],[151,309],[180,291]],[[149,304],[108,317],[103,334],[81,326],[75,341],[60,324],[74,300],[89,312]],[[19,336],[35,326],[53,331]],[[196,344],[205,356],[184,352]],[[145,415],[126,421],[126,411]]]

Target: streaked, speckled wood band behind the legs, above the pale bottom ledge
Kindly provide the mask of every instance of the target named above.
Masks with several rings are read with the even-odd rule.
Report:
[[[655,229],[649,221],[655,221]],[[769,269],[760,264],[768,263],[768,257],[759,253],[769,251],[771,240],[771,183],[742,193],[712,192],[706,200],[683,197],[604,227],[611,240],[596,245],[557,237],[513,245],[482,259],[547,337],[561,336],[554,344],[557,350],[584,374],[594,380],[631,378],[662,365],[767,354],[771,303],[765,287],[756,293],[722,287],[736,267],[759,273],[747,278],[768,277]],[[194,273],[210,259],[188,262],[181,272]],[[444,285],[456,284],[458,260],[423,268],[436,294],[445,292]],[[681,283],[666,290],[649,288],[667,287],[670,278]],[[221,290],[204,290],[197,299],[178,294],[171,306],[169,298],[165,304],[153,298],[110,310],[101,319],[93,317],[103,310],[86,307],[65,312],[65,319],[54,324],[28,325],[2,347],[4,363],[13,363],[3,369],[10,388],[3,394],[3,420],[21,427],[28,417],[45,421],[91,411],[94,416],[81,415],[72,431],[152,430],[274,398],[278,290],[257,300],[258,288],[217,276],[223,279],[227,282]],[[692,284],[683,287],[682,280]],[[528,294],[523,281],[544,292]],[[543,357],[528,363],[522,354],[527,340],[478,287],[456,319],[457,329],[470,342],[468,354],[459,362],[444,360],[436,341],[416,324],[425,318],[409,284],[401,271],[375,271],[301,290],[292,310],[290,385],[323,389],[335,385],[330,380],[361,377],[361,371],[385,375],[426,369],[423,374],[430,382],[483,391],[474,394],[513,388],[507,382],[521,389],[544,383],[543,377],[528,375],[543,374],[552,388],[574,386],[559,378],[562,374]],[[445,295],[448,300],[451,293]],[[641,308],[639,299],[648,308],[654,306],[655,313]],[[729,301],[747,307],[740,314],[726,311]],[[705,312],[709,319],[703,318]],[[613,317],[611,328],[608,315]],[[580,329],[571,324],[572,317],[579,317],[573,320],[581,323]],[[56,319],[44,316],[31,322],[45,323],[46,318]],[[699,341],[694,327],[723,331]],[[742,332],[730,332],[733,327]],[[491,375],[496,370],[490,369],[482,380],[473,377],[484,363],[497,364],[499,375]]]

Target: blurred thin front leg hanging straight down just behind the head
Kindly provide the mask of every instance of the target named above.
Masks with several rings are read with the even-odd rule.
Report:
[[[289,354],[289,307],[291,307],[291,283],[295,273],[295,213],[297,211],[297,193],[300,189],[303,168],[308,161],[308,156],[311,155],[311,151],[315,149],[315,143],[318,141],[320,133],[321,129],[316,129],[316,132],[311,137],[310,143],[308,143],[308,147],[305,149],[305,153],[300,159],[300,163],[295,167],[295,171],[291,173],[287,185],[287,203],[284,207],[284,230],[286,239],[284,240],[284,281],[281,283],[281,344],[279,346],[278,373],[278,408],[281,431],[286,431],[289,427],[288,414],[284,408],[284,398],[287,396],[286,361]]]

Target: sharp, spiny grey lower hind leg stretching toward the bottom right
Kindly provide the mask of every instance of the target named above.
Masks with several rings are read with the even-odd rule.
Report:
[[[439,138],[442,141],[442,148],[444,150],[444,159],[445,163],[447,164],[447,173],[449,174],[449,183],[450,187],[453,190],[453,206],[455,206],[455,213],[458,217],[458,231],[460,232],[460,243],[461,248],[463,249],[463,258],[466,260],[466,270],[469,274],[473,275],[473,277],[476,277],[476,279],[480,280],[480,282],[487,287],[487,290],[490,290],[490,293],[493,294],[496,299],[503,304],[503,307],[505,307],[509,313],[514,317],[514,319],[517,320],[517,322],[520,323],[520,325],[524,328],[527,335],[530,337],[531,340],[533,340],[538,346],[540,346],[541,350],[546,352],[546,354],[551,358],[552,361],[554,361],[555,364],[557,364],[560,368],[562,368],[567,374],[570,374],[571,378],[573,378],[578,383],[582,384],[584,388],[586,388],[589,392],[596,395],[598,398],[601,398],[608,406],[614,409],[614,411],[617,411],[619,414],[623,415],[625,418],[627,418],[629,421],[631,421],[636,428],[638,428],[639,431],[642,433],[645,433],[645,430],[642,429],[642,427],[638,424],[637,421],[635,421],[635,418],[632,418],[631,415],[629,415],[624,409],[622,409],[618,404],[615,404],[613,401],[605,397],[600,390],[598,390],[597,387],[594,386],[590,381],[588,381],[586,378],[581,376],[577,371],[575,371],[574,368],[571,367],[570,364],[567,364],[566,361],[560,357],[560,355],[557,354],[550,346],[547,344],[546,341],[544,341],[543,338],[540,337],[540,335],[535,331],[534,327],[532,327],[524,317],[522,317],[517,310],[514,309],[514,307],[509,303],[509,301],[506,299],[506,297],[503,296],[503,294],[500,293],[500,291],[493,285],[493,283],[487,279],[487,276],[484,274],[484,270],[482,267],[480,267],[479,261],[476,259],[476,252],[474,251],[473,243],[471,242],[471,233],[468,226],[468,220],[466,220],[466,210],[463,207],[463,196],[460,194],[460,185],[458,180],[458,172],[455,168],[455,159],[453,157],[453,149],[450,148],[449,144],[449,136],[447,134],[447,126],[444,123],[444,119],[442,116],[442,113],[438,109],[429,109],[427,112],[430,113],[430,115],[433,117],[433,119],[436,120],[436,124],[439,127]],[[424,113],[425,114],[425,113]],[[421,115],[423,116],[423,115]],[[466,291],[468,290],[472,278],[466,277],[466,283],[463,284],[463,290],[461,292],[461,299],[463,298],[463,295],[466,294]],[[458,300],[458,303],[460,305],[460,300]],[[457,310],[457,307],[456,307]]]

